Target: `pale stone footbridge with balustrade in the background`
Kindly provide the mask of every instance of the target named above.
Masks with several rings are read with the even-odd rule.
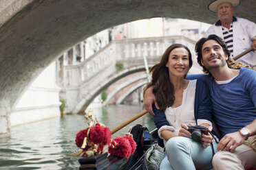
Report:
[[[61,97],[67,101],[67,112],[83,112],[107,86],[131,73],[145,71],[143,56],[147,58],[149,67],[153,66],[173,43],[181,43],[192,49],[196,65],[193,52],[195,41],[184,36],[167,36],[114,40],[80,64],[65,66]],[[67,55],[64,56],[66,62]],[[123,68],[117,69],[116,64],[122,64]],[[191,73],[198,73],[197,70],[200,71],[199,66],[193,67]],[[118,100],[118,103],[124,98]]]

